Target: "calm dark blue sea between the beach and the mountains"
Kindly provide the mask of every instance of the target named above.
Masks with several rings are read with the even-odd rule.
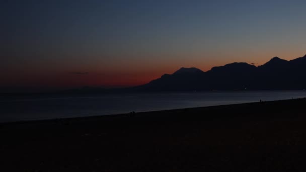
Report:
[[[0,122],[145,112],[305,98],[306,91],[88,94],[0,97]]]

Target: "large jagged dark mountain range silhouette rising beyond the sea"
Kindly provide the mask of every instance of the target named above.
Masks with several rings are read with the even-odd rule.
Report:
[[[132,90],[302,90],[306,89],[305,76],[306,55],[289,61],[274,57],[258,67],[237,62],[212,67],[206,72],[195,67],[182,67]]]

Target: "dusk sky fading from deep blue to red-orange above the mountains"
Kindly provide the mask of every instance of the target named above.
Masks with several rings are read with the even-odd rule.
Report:
[[[306,1],[3,0],[0,92],[131,87],[306,54]]]

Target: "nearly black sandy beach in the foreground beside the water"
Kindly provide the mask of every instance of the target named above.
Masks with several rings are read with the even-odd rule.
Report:
[[[0,171],[305,171],[306,99],[0,124]]]

